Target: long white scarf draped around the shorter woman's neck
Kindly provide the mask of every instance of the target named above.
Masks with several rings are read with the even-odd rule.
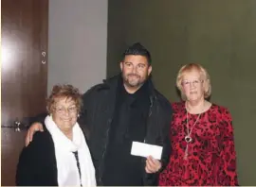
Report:
[[[76,123],[73,127],[71,141],[57,127],[51,116],[46,116],[45,123],[55,147],[59,186],[96,186],[95,169],[79,124]],[[72,153],[75,151],[78,151],[81,179],[76,158]]]

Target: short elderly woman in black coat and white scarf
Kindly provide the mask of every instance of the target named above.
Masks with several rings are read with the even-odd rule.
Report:
[[[96,186],[91,155],[77,123],[81,97],[71,85],[53,87],[44,132],[36,132],[20,155],[17,185]]]

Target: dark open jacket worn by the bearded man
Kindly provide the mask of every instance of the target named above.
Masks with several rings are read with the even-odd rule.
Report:
[[[105,80],[84,93],[82,98],[83,109],[79,123],[87,137],[96,169],[98,185],[104,185],[101,177],[104,168],[104,156],[109,141],[110,125],[115,111],[118,79],[119,76],[114,76]],[[172,107],[170,102],[155,90],[151,79],[149,80],[149,91],[151,104],[145,143],[163,146],[161,158],[163,166],[161,170],[163,170],[169,162],[171,154],[169,129],[172,119]],[[141,161],[145,162],[145,159],[142,158]],[[142,177],[144,185],[157,185],[158,173],[149,175],[145,172]]]

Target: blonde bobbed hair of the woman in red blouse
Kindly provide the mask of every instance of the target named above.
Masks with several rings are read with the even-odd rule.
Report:
[[[200,64],[198,63],[189,63],[186,65],[183,65],[180,70],[178,71],[177,77],[176,77],[176,86],[178,90],[181,93],[181,97],[183,100],[186,99],[186,96],[182,92],[182,79],[183,76],[189,72],[192,72],[192,70],[196,70],[199,72],[202,80],[204,81],[204,97],[208,98],[211,94],[211,85],[210,85],[210,76],[208,71]]]

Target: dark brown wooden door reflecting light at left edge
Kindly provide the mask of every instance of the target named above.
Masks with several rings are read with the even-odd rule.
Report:
[[[15,185],[17,123],[46,111],[48,0],[2,0],[1,185]],[[16,124],[15,124],[16,122]]]

